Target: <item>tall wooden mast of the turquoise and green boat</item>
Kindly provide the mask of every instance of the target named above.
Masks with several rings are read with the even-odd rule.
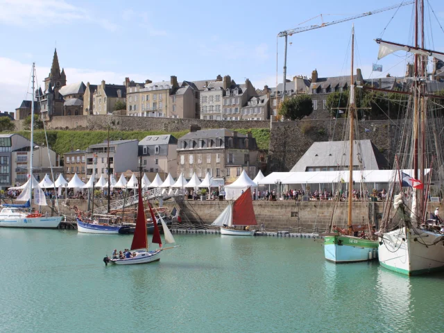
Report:
[[[348,165],[348,234],[352,236],[352,190],[353,190],[353,142],[355,135],[355,83],[353,80],[353,58],[355,53],[355,24],[352,28],[352,71],[350,74],[350,109],[348,118],[350,119],[350,156]]]

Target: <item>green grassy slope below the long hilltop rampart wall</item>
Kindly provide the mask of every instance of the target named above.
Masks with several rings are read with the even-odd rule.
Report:
[[[251,128],[251,129],[238,129],[239,133],[246,134],[248,130],[251,131],[253,137],[256,138],[259,149],[268,151],[268,144],[270,141],[270,130],[266,128]],[[147,135],[162,135],[171,134],[174,137],[180,138],[187,134],[189,130],[182,130],[180,132],[165,133],[161,131],[149,130],[141,131],[136,130],[133,132],[123,132],[119,130],[110,131],[110,139],[143,139]],[[23,135],[29,138],[31,133],[18,132],[17,134]],[[76,149],[85,149],[91,144],[99,144],[107,139],[108,132],[105,130],[49,130],[46,132],[48,135],[49,146],[51,146],[58,154],[62,155]],[[34,141],[36,144],[43,144],[45,142],[44,133],[42,130],[35,130]]]

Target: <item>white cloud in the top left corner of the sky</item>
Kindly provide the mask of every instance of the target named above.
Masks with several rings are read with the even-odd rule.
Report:
[[[10,26],[46,26],[58,20],[99,24],[108,31],[117,29],[117,25],[108,19],[92,17],[87,10],[64,0],[0,0],[0,8],[0,23]]]

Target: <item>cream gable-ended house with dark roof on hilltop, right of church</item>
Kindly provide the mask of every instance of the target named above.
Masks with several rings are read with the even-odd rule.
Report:
[[[126,103],[126,86],[107,85],[102,80],[92,95],[92,114],[112,114],[117,101]]]

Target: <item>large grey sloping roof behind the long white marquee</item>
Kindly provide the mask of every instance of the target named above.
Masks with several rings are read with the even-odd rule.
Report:
[[[314,142],[300,157],[291,172],[306,171],[307,167],[337,168],[348,166],[350,164],[349,152],[348,141]],[[359,159],[362,160],[366,170],[386,169],[388,167],[386,158],[368,139],[355,141],[355,147],[353,148],[354,166],[360,164]]]

